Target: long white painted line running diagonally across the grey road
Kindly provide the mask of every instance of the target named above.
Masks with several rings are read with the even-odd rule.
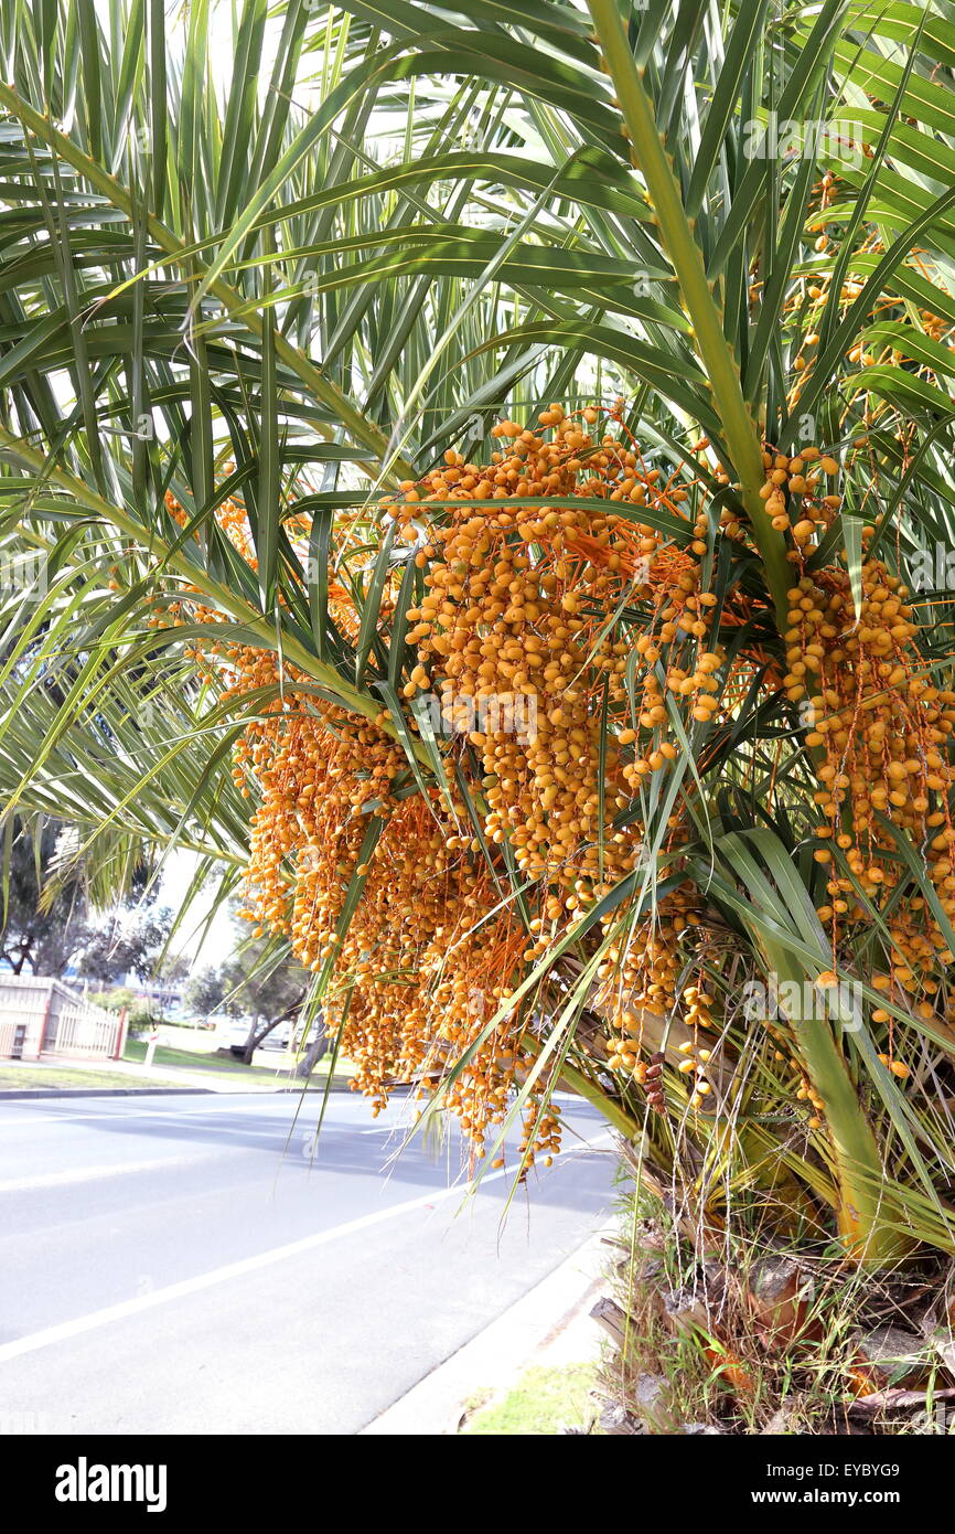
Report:
[[[583,1144],[573,1146],[566,1150],[560,1158],[556,1166],[567,1161],[573,1155],[579,1155],[583,1150],[596,1150],[602,1144],[610,1144],[612,1135],[598,1135],[596,1140],[586,1140]],[[481,1189],[487,1183],[495,1183],[501,1177],[514,1177],[512,1170],[501,1167],[497,1172],[487,1172],[481,1178]],[[478,1189],[480,1192],[480,1189]],[[392,1204],[389,1209],[379,1209],[371,1215],[359,1215],[357,1220],[346,1220],[340,1226],[331,1226],[328,1230],[317,1230],[311,1236],[304,1236],[300,1241],[288,1241],[285,1246],[273,1247],[270,1252],[259,1252],[256,1256],[241,1258],[238,1262],[227,1262],[224,1267],[215,1267],[208,1273],[198,1273],[195,1278],[185,1278],[178,1284],[167,1284],[166,1289],[153,1289],[147,1295],[136,1295],[133,1299],[123,1299],[117,1305],[106,1305],[103,1310],[94,1310],[87,1316],[77,1316],[74,1321],[61,1321],[55,1327],[44,1327],[43,1332],[34,1332],[32,1336],[15,1338],[12,1342],[3,1342],[0,1345],[0,1364],[6,1364],[8,1359],[21,1358],[25,1353],[37,1353],[43,1347],[51,1347],[54,1342],[67,1342],[71,1338],[81,1336],[84,1332],[95,1332],[98,1327],[106,1327],[112,1321],[124,1321],[127,1316],[136,1316],[144,1310],[153,1310],[156,1305],[166,1305],[172,1299],[184,1299],[187,1295],[196,1295],[204,1289],[213,1289],[216,1284],[224,1284],[230,1278],[244,1278],[245,1273],[256,1273],[264,1267],[273,1267],[276,1262],[285,1262],[290,1256],[299,1256],[302,1252],[314,1252],[317,1247],[328,1246],[331,1241],[339,1241],[342,1236],[356,1235],[359,1230],[368,1230],[371,1226],[379,1226],[385,1220],[392,1220],[395,1215],[409,1215],[415,1209],[425,1209],[429,1204],[440,1204],[446,1198],[463,1198],[466,1189],[463,1186],[455,1187],[438,1187],[429,1193],[422,1193],[418,1198],[408,1198],[402,1204]]]

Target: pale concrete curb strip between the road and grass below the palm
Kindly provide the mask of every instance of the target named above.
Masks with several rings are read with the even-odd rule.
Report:
[[[498,1396],[509,1390],[538,1356],[541,1361],[549,1358],[558,1338],[586,1321],[604,1284],[605,1236],[613,1230],[610,1224],[601,1226],[540,1284],[360,1428],[359,1436],[457,1434],[464,1405],[475,1391],[491,1388]]]

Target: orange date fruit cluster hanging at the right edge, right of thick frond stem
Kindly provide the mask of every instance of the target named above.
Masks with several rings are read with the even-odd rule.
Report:
[[[814,856],[829,876],[819,914],[834,953],[852,927],[878,923],[886,962],[874,986],[927,1020],[947,1014],[953,960],[943,920],[955,916],[955,692],[924,670],[907,595],[878,558],[861,565],[858,612],[845,571],[803,575],[789,592],[785,686],[805,709],[817,759]],[[911,876],[897,827],[924,848],[934,900],[897,899]],[[884,1008],[872,1016],[891,1028]]]

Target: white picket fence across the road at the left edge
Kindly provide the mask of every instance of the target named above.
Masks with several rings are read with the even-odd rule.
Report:
[[[0,1060],[113,1058],[123,1023],[61,980],[0,974]]]

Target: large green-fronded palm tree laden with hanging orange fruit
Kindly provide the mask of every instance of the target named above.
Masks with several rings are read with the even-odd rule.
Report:
[[[510,1103],[518,1175],[560,1080],[697,1246],[950,1256],[947,11],[2,46],[12,807],[251,870],[369,1095]]]

